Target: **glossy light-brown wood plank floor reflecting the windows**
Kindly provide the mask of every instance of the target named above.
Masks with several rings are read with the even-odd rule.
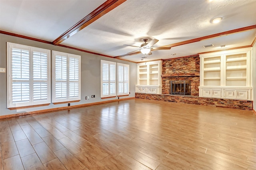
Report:
[[[143,99],[0,120],[0,170],[255,170],[252,111]]]

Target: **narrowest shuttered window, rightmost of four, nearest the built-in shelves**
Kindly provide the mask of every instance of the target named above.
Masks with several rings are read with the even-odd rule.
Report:
[[[117,63],[117,96],[129,94],[129,65]]]

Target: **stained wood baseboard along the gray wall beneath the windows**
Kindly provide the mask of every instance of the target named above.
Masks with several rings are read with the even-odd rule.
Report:
[[[78,105],[74,105],[74,106],[56,107],[56,108],[44,109],[44,110],[28,111],[28,112],[24,112],[24,113],[16,113],[16,114],[10,114],[10,115],[2,115],[2,116],[0,116],[0,119],[6,119],[6,118],[10,118],[10,117],[18,117],[18,116],[24,116],[24,115],[32,115],[32,114],[44,113],[44,112],[48,112],[48,111],[72,109],[72,108],[76,108],[76,107],[91,106],[91,105],[97,105],[97,104],[103,104],[103,103],[109,103],[109,102],[117,102],[117,101],[120,101],[120,100],[128,100],[128,99],[135,99],[135,97],[108,100],[108,101],[102,101],[102,102],[94,102],[94,103],[88,103],[88,104],[78,104]]]

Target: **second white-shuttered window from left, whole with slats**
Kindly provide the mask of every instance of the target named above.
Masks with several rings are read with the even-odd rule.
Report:
[[[81,100],[81,56],[52,51],[52,102]]]

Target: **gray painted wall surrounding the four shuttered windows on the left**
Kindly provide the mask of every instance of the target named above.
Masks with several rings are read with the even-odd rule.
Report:
[[[99,55],[84,53],[82,51],[59,47],[56,45],[40,43],[40,42],[32,41],[29,39],[23,39],[19,37],[13,37],[10,35],[0,34],[0,67],[1,68],[6,68],[6,55],[7,55],[6,42],[81,55],[81,101],[76,103],[70,103],[71,106],[117,99],[117,97],[104,99],[104,100],[100,98],[100,60],[114,61],[114,62],[130,65],[130,95],[120,97],[120,98],[131,98],[135,96],[135,85],[137,80],[137,64],[136,63],[131,63],[131,62],[122,61],[118,59],[112,59],[109,57],[102,57]],[[15,114],[15,113],[23,113],[26,111],[36,111],[36,110],[42,110],[42,109],[68,106],[68,104],[58,104],[58,105],[50,104],[49,106],[43,106],[43,107],[9,110],[7,109],[7,83],[6,83],[7,77],[6,76],[7,76],[7,73],[0,73],[0,116]],[[95,95],[95,98],[91,98],[92,95]],[[85,100],[85,96],[90,96],[90,99]]]

